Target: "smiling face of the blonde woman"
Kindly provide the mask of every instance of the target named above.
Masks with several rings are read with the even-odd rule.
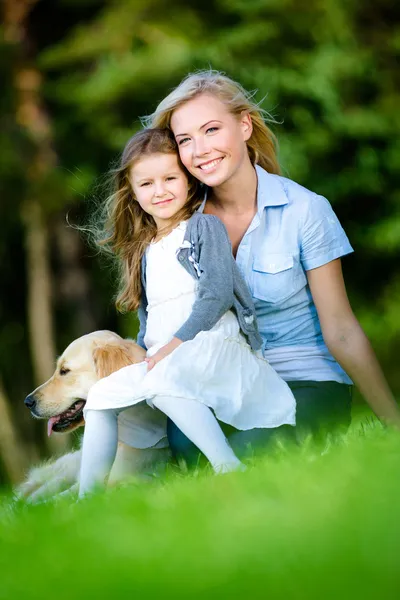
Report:
[[[232,115],[211,94],[196,96],[177,108],[171,129],[182,163],[210,187],[228,182],[250,161],[246,146],[253,130],[250,115]]]

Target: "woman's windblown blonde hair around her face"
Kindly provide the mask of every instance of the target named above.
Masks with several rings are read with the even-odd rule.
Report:
[[[178,87],[160,102],[155,112],[143,121],[151,127],[169,129],[174,110],[200,94],[216,96],[235,116],[243,112],[250,114],[253,132],[246,142],[250,160],[253,165],[258,164],[269,173],[279,174],[276,136],[266,124],[266,121],[276,121],[253,101],[254,93],[247,92],[240,83],[219,71],[199,71],[187,75]]]

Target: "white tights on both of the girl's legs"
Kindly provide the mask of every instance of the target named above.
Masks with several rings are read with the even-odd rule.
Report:
[[[208,406],[196,400],[169,396],[157,396],[152,402],[203,452],[215,472],[225,473],[242,467]],[[117,453],[118,415],[122,410],[86,411],[79,496],[105,485]]]

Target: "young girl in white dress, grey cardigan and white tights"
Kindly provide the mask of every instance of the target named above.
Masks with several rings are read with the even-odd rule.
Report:
[[[291,391],[257,353],[253,303],[225,227],[195,212],[197,183],[171,134],[148,129],[133,136],[116,184],[105,242],[123,267],[117,306],[139,309],[138,343],[148,358],[89,393],[80,495],[107,478],[118,414],[139,402],[165,413],[216,472],[241,467],[216,417],[240,430],[295,424]]]

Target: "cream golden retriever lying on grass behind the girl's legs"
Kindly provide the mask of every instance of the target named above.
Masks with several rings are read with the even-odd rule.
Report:
[[[102,377],[141,362],[145,351],[111,331],[95,331],[73,341],[57,361],[54,374],[25,399],[37,419],[47,419],[48,435],[67,433],[84,425],[83,408],[92,385]],[[146,443],[140,442],[140,435]],[[149,448],[148,440],[154,441]],[[109,484],[165,466],[170,459],[166,417],[140,403],[120,414],[118,451]],[[147,447],[141,447],[147,446]],[[36,502],[77,491],[81,451],[33,468],[17,490],[19,497]]]

